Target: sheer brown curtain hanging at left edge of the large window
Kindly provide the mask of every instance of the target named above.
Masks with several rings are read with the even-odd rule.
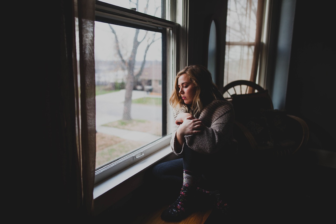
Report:
[[[78,0],[79,67],[81,83],[81,133],[83,209],[93,209],[93,186],[96,160],[96,114],[94,70],[94,18],[95,1]]]

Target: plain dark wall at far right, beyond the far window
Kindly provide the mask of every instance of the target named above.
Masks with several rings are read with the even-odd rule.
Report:
[[[296,2],[286,110],[308,123],[309,147],[336,151],[335,12],[329,1]]]

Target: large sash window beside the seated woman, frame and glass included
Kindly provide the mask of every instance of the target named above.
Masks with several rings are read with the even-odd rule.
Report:
[[[96,1],[96,183],[169,145],[177,70],[165,1],[109,2]]]

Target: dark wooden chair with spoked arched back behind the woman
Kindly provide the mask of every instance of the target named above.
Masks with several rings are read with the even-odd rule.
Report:
[[[237,80],[224,86],[223,96],[235,109],[234,135],[240,153],[283,157],[306,145],[306,122],[286,111],[274,110],[267,89],[248,80]]]

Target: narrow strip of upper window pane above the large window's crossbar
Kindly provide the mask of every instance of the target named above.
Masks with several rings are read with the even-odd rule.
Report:
[[[106,2],[112,5],[120,6],[123,8],[135,8],[136,11],[142,12],[148,15],[153,15],[159,18],[164,18],[161,14],[161,9],[164,8],[162,5],[164,4],[164,0],[139,0],[138,5],[134,3],[135,1],[128,0],[102,0],[102,2]],[[148,7],[147,7],[148,3]]]

